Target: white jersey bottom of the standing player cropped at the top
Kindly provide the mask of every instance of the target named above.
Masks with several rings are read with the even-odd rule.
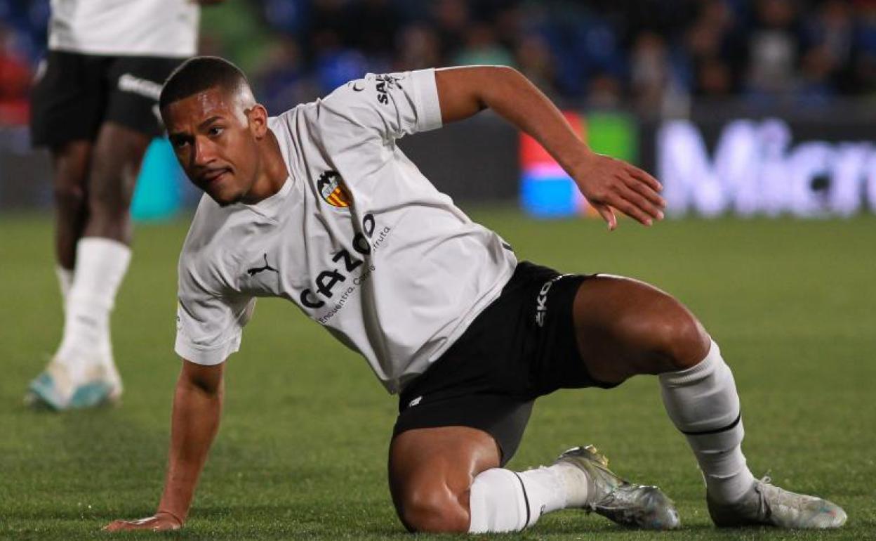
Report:
[[[194,54],[194,0],[52,0],[49,49],[107,56]]]

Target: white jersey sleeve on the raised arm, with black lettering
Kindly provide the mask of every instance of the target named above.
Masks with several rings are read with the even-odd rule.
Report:
[[[365,75],[323,99],[320,114],[334,137],[364,131],[392,140],[442,126],[434,69]]]

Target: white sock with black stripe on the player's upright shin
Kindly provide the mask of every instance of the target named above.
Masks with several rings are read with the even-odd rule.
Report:
[[[730,367],[713,341],[696,367],[661,374],[661,394],[669,417],[688,438],[706,488],[716,502],[736,502],[754,476],[742,454],[742,414]]]

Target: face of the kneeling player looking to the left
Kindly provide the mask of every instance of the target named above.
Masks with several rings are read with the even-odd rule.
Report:
[[[189,180],[220,205],[245,201],[258,174],[258,145],[243,106],[207,89],[162,111],[173,152]]]

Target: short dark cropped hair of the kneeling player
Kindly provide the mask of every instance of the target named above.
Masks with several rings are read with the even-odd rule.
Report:
[[[234,92],[249,86],[244,72],[230,61],[218,56],[195,56],[181,63],[167,77],[161,88],[159,109],[206,89],[220,87]]]

